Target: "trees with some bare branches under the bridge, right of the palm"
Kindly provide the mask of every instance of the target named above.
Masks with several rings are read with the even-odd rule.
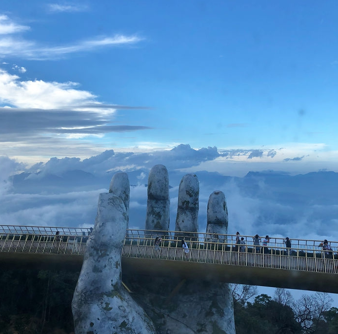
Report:
[[[281,288],[275,290],[274,298],[263,293],[245,305],[234,298],[236,333],[337,334],[338,309],[331,308],[331,303],[328,293],[303,294],[295,301],[291,292]]]

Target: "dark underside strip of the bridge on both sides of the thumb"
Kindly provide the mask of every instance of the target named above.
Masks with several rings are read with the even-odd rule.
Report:
[[[3,268],[80,271],[83,255],[0,253]],[[150,275],[338,293],[337,274],[122,257],[122,277]]]

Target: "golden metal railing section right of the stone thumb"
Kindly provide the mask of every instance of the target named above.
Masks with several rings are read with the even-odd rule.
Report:
[[[160,250],[156,236],[162,238]],[[183,238],[189,253],[182,249]],[[239,245],[236,235],[229,234],[127,230],[122,256],[338,273],[337,242],[330,241],[332,251],[326,252],[319,240],[292,240],[287,248],[281,238],[271,238],[267,247],[254,245],[252,236],[243,238],[245,244]]]

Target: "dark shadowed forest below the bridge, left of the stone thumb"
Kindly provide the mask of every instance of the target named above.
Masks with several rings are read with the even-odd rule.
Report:
[[[73,332],[71,301],[78,277],[79,272],[68,271],[2,271],[0,334]]]

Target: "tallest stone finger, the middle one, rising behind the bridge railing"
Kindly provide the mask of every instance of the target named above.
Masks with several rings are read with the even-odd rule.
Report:
[[[170,200],[168,170],[163,165],[154,166],[148,177],[146,230],[169,230]]]

